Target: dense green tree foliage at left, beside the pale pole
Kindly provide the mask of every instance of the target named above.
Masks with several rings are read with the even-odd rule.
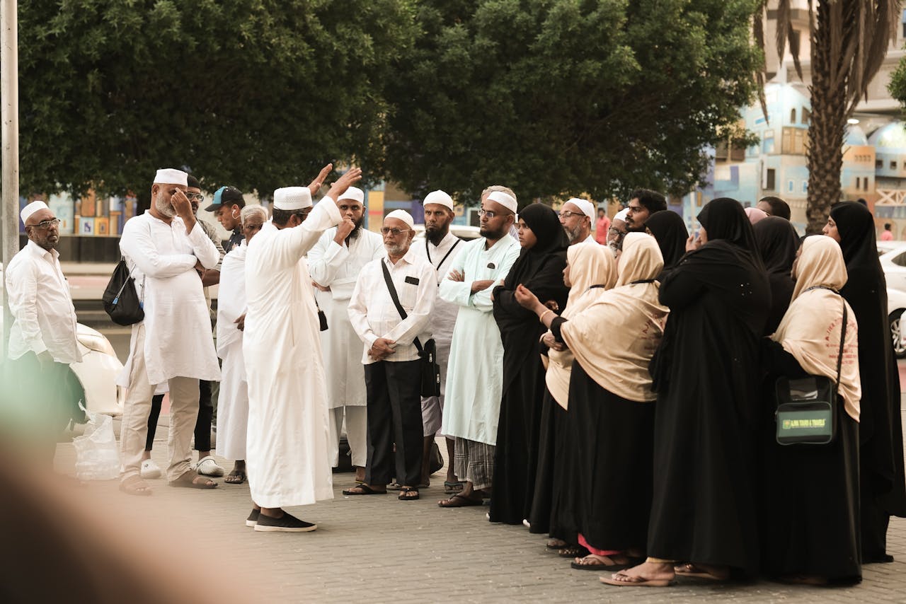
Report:
[[[143,194],[156,168],[268,194],[382,153],[399,0],[19,4],[21,186]]]

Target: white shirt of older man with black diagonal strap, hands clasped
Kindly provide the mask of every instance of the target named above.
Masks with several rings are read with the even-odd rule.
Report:
[[[381,264],[390,270],[390,280],[406,311],[405,320],[390,298]],[[368,351],[378,338],[396,342],[393,354],[384,360],[417,360],[419,350],[413,341],[419,338],[419,342],[425,342],[431,337],[429,320],[437,296],[434,267],[411,248],[396,264],[387,257],[365,264],[349,302],[352,329],[364,344],[361,362],[365,365],[375,362]]]

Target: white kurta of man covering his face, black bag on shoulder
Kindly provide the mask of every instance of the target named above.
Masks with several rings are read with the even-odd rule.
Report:
[[[130,218],[123,227],[120,252],[135,278],[136,292],[144,297],[145,345],[144,350],[135,350],[141,324],[136,323],[132,326],[129,358],[117,383],[129,387],[136,354],[145,356],[151,384],[170,378],[220,379],[211,317],[201,278],[195,271],[196,262],[205,268],[217,266],[220,254],[201,225],[197,222],[186,235],[181,218],[173,218],[168,225],[145,212]]]

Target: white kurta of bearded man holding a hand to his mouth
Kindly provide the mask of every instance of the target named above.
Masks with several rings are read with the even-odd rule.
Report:
[[[336,229],[327,230],[308,253],[312,281],[330,287],[330,292],[314,292],[327,316],[327,331],[321,332],[321,350],[327,376],[329,408],[364,407],[365,369],[359,350],[361,340],[349,321],[349,299],[361,267],[386,255],[381,235],[361,229],[346,244],[336,244]]]

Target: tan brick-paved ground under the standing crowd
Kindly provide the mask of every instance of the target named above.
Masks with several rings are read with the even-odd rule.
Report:
[[[158,434],[153,456],[165,467],[166,427]],[[58,470],[72,474],[74,456],[71,444],[58,446]],[[252,586],[259,602],[906,601],[906,520],[898,518],[888,542],[897,561],[866,566],[863,583],[852,588],[695,580],[666,589],[617,588],[599,583],[597,572],[571,569],[569,560],[545,550],[544,536],[488,523],[487,506],[440,509],[443,471],[417,502],[395,494],[344,497],[352,475],[333,476],[333,501],[290,510],[318,523],[316,532],[301,534],[247,528],[247,484],[222,479],[213,491],[149,481],[150,497],[120,494],[116,481],[84,491],[129,510],[136,522],[177,534],[175,548],[200,547],[207,561],[198,561],[199,577]]]

